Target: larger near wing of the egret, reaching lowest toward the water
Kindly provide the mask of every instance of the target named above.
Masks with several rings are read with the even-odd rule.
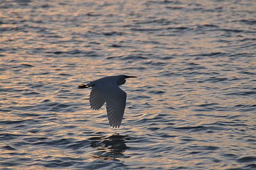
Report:
[[[116,81],[111,81],[104,85],[96,84],[96,88],[107,103],[106,107],[110,126],[119,128],[125,112],[126,92],[117,86]]]

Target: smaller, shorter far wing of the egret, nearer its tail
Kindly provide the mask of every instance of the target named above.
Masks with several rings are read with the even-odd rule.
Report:
[[[101,95],[99,90],[93,86],[92,91],[90,92],[90,106],[92,109],[98,110],[105,103],[105,98]]]

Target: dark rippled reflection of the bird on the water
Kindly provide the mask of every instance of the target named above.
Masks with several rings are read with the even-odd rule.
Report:
[[[97,135],[88,139],[91,140],[90,147],[99,150],[93,155],[95,158],[116,161],[119,161],[117,158],[129,158],[129,156],[124,155],[125,150],[130,148],[125,144],[127,140],[131,140],[128,135],[113,134],[108,137]]]

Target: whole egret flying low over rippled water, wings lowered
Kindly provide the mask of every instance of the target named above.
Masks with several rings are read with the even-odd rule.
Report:
[[[119,86],[125,84],[126,78],[137,77],[127,75],[107,76],[89,84],[78,86],[78,89],[92,87],[90,92],[90,106],[92,109],[98,110],[106,102],[108,121],[112,127],[119,128],[125,112],[126,92],[120,89]]]

